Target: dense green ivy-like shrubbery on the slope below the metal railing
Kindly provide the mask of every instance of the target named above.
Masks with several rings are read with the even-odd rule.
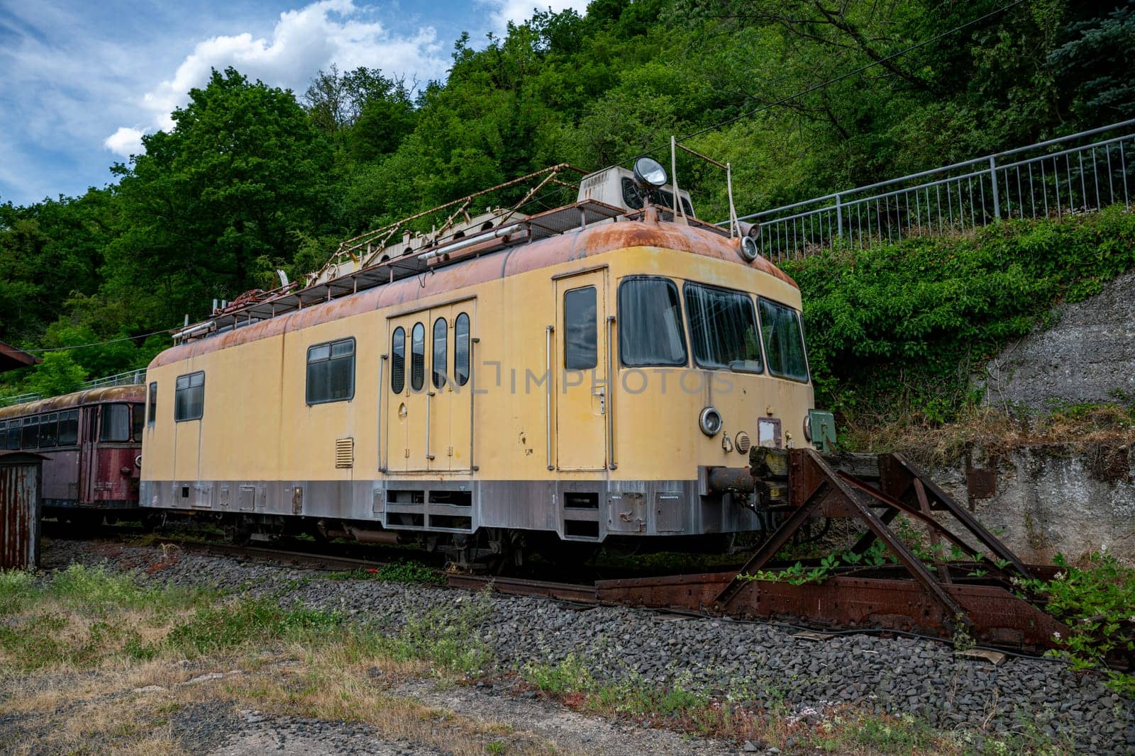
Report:
[[[949,237],[836,247],[785,264],[800,284],[818,406],[857,425],[948,422],[974,368],[1135,266],[1123,206]]]

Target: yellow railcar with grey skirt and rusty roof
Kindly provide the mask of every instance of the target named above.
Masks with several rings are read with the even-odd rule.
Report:
[[[735,235],[581,189],[186,329],[148,371],[142,506],[459,561],[759,529],[730,476],[807,443],[800,304]]]

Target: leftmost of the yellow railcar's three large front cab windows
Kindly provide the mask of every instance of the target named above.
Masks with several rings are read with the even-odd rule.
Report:
[[[684,365],[686,332],[673,281],[625,279],[619,287],[619,358],[628,367]]]

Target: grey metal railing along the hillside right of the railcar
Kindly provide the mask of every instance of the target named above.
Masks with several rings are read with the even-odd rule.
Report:
[[[1060,218],[1135,194],[1135,119],[746,215],[770,260],[953,233],[1001,218]],[[1085,141],[1094,137],[1094,141]]]

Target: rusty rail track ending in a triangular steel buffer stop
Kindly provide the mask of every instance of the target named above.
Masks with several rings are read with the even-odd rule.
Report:
[[[756,453],[759,452],[759,453]],[[945,640],[961,634],[972,642],[1019,652],[1044,652],[1069,628],[1039,606],[1043,596],[1022,596],[1014,578],[1050,577],[1051,567],[1023,563],[1004,544],[933,481],[900,455],[836,455],[812,449],[758,449],[753,481],[760,501],[779,496],[784,518],[743,567],[724,572],[663,576],[606,576],[572,583],[558,579],[488,577],[438,571],[438,583],[454,588],[547,596],[581,604],[631,605],[739,619],[777,621],[827,631],[891,631]],[[775,501],[775,496],[771,499]],[[950,516],[960,527],[948,528]],[[941,552],[924,561],[890,527],[902,513],[930,530],[932,543],[952,544],[965,561]],[[848,552],[860,558],[886,553],[871,567],[839,566],[812,579],[773,562],[809,519],[858,520],[863,535]],[[321,569],[379,571],[386,559],[312,553],[300,550],[170,541],[186,551],[262,559]],[[305,542],[301,542],[305,543]],[[976,545],[975,545],[976,544]],[[873,550],[873,551],[872,551]],[[402,552],[402,557],[409,552]],[[556,576],[558,577],[558,576]],[[1129,663],[1129,661],[1128,661]]]

